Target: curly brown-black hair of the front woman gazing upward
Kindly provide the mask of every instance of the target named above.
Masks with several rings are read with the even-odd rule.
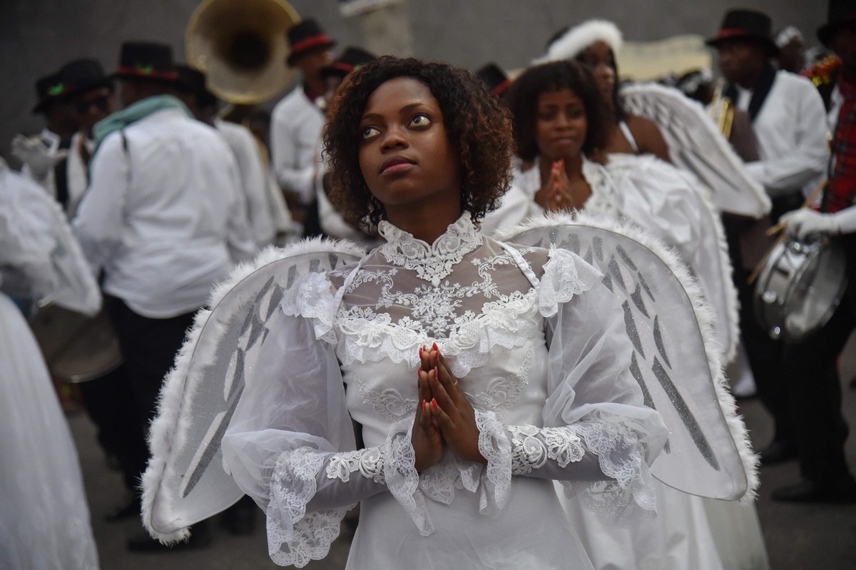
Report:
[[[511,181],[511,119],[484,83],[447,63],[383,56],[339,86],[324,128],[330,162],[330,200],[354,223],[377,225],[386,213],[360,169],[360,120],[372,93],[386,81],[412,77],[437,98],[449,141],[461,155],[461,210],[473,220],[496,209]]]

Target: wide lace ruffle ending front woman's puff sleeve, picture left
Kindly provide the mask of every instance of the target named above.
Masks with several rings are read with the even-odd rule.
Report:
[[[306,514],[324,454],[313,448],[286,451],[276,461],[267,507],[268,553],[281,566],[304,567],[330,552],[348,508]]]

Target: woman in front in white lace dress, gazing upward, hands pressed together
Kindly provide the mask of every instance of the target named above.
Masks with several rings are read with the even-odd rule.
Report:
[[[350,568],[591,568],[553,481],[651,514],[664,426],[599,272],[479,231],[507,112],[466,71],[384,57],[345,80],[325,142],[332,198],[384,243],[289,289],[223,437],[271,558],[323,557],[360,502]]]

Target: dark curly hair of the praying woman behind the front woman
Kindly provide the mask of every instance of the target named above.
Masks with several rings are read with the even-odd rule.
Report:
[[[588,129],[586,140],[583,141],[583,153],[591,157],[606,148],[612,117],[591,71],[578,62],[544,63],[527,69],[509,87],[509,107],[514,116],[514,141],[517,154],[523,160],[534,160],[539,153],[535,138],[538,98],[542,93],[562,89],[576,93],[586,108]]]

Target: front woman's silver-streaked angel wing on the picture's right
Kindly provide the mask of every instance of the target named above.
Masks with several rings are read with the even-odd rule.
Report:
[[[503,240],[563,247],[603,272],[624,309],[632,373],[669,428],[655,477],[698,496],[754,496],[757,458],[722,373],[713,310],[675,252],[635,226],[580,214],[530,220]]]

